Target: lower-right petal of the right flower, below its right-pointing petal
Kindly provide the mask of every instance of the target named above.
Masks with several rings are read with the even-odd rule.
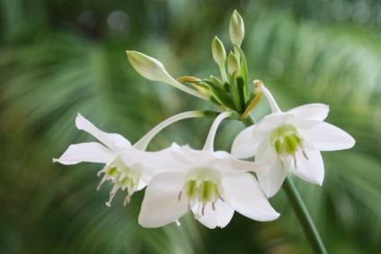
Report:
[[[315,150],[306,150],[306,157],[302,152],[297,152],[297,169],[291,167],[291,173],[299,178],[318,185],[323,184],[324,165],[322,154]]]

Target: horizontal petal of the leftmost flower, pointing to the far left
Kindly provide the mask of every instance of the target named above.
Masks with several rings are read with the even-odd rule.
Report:
[[[96,143],[82,143],[69,145],[65,153],[53,162],[65,165],[76,164],[79,162],[110,163],[115,159],[116,154],[107,147]]]

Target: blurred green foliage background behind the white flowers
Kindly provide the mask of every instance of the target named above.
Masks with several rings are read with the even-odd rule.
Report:
[[[235,214],[207,230],[191,215],[160,229],[137,224],[143,192],[124,207],[111,183],[96,191],[102,165],[52,163],[70,144],[93,141],[75,116],[132,143],[164,118],[216,109],[164,83],[146,81],[125,50],[164,63],[174,77],[218,75],[217,35],[230,50],[228,22],[244,18],[249,78],[261,79],[283,110],[323,102],[327,121],[357,140],[323,153],[323,187],[293,178],[327,250],[381,250],[381,2],[228,0],[3,0],[0,2],[1,253],[311,253],[282,191],[270,198],[279,220]],[[265,101],[253,110],[269,113]],[[211,119],[188,119],[156,136],[201,148]],[[227,121],[216,148],[242,129]]]

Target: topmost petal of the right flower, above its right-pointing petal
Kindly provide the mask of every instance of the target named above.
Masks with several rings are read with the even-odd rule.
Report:
[[[297,121],[306,119],[323,121],[323,119],[327,118],[329,111],[330,108],[328,105],[321,103],[312,103],[290,109],[286,113],[297,116]]]

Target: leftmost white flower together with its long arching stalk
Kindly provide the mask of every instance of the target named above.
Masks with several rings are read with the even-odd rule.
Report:
[[[183,118],[205,117],[207,114],[210,114],[210,112],[189,111],[168,118],[150,130],[135,145],[131,145],[126,138],[119,134],[102,132],[78,114],[75,119],[76,127],[93,135],[103,145],[96,142],[70,145],[66,152],[58,159],[53,159],[53,162],[60,162],[66,165],[79,162],[105,163],[106,165],[102,171],[98,172],[98,176],[101,176],[102,173],[104,175],[97,189],[99,190],[106,180],[111,180],[114,184],[110,192],[110,200],[106,203],[107,206],[111,206],[111,200],[118,189],[127,189],[128,195],[124,200],[124,205],[126,206],[131,195],[137,190],[145,188],[155,173],[155,171],[147,171],[144,165],[146,162],[144,151],[151,139],[164,127],[176,121]],[[120,160],[121,154],[123,154],[124,162]]]

